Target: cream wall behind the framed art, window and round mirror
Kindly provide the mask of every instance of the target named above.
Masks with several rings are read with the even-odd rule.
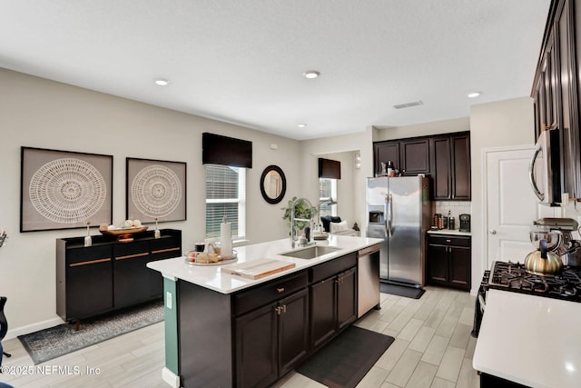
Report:
[[[0,225],[9,235],[0,248],[0,294],[8,297],[9,336],[60,323],[55,240],[84,235],[84,229],[19,233],[21,146],[112,154],[112,222],[125,217],[125,157],[186,162],[187,221],[160,227],[181,229],[183,248],[189,249],[205,231],[202,132],[250,140],[248,238],[258,243],[288,235],[281,207],[296,188],[302,191],[300,142],[5,69],[0,69],[0,90]],[[278,149],[271,150],[271,144]],[[261,196],[259,181],[269,164],[279,165],[287,178],[281,204],[268,204]]]

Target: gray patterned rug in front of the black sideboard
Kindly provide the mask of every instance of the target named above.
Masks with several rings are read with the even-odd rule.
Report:
[[[163,301],[160,300],[81,321],[79,331],[74,330],[74,324],[63,323],[38,332],[19,335],[18,339],[25,346],[34,364],[37,364],[162,320]]]

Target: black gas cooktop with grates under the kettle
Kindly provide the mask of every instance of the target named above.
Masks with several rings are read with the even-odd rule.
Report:
[[[482,279],[483,288],[581,302],[581,267],[564,266],[561,274],[531,274],[525,264],[495,262]]]

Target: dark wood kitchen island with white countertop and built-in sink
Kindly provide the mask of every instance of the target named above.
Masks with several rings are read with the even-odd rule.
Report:
[[[148,264],[164,280],[163,380],[175,387],[271,385],[357,319],[359,256],[377,246],[379,267],[381,242],[330,235],[316,245],[338,249],[311,259],[288,255],[304,249],[290,239],[236,248],[236,264],[294,264],[258,279],[184,257]],[[379,308],[379,274],[377,283]]]

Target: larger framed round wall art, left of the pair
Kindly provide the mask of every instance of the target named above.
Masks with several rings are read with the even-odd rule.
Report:
[[[20,231],[109,224],[113,156],[21,148]]]

